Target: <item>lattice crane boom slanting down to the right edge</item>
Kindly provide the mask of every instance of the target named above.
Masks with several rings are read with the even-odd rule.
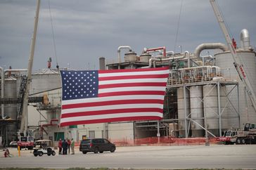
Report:
[[[219,10],[219,7],[217,6],[217,3],[215,0],[210,0],[210,4],[212,5],[212,9],[215,12],[215,16],[217,18],[217,21],[219,22],[219,27],[222,29],[222,32],[224,34],[224,37],[226,39],[226,43],[229,46],[229,50],[231,51],[231,55],[233,58],[233,65],[236,68],[236,71],[238,72],[238,75],[243,82],[243,84],[246,87],[246,91],[248,92],[248,96],[250,97],[250,100],[252,101],[252,105],[256,111],[256,96],[252,89],[252,85],[250,84],[250,81],[246,75],[246,72],[243,68],[243,65],[240,62],[240,59],[238,58],[238,55],[236,53],[236,49],[233,46],[233,43],[231,41],[231,37],[229,36],[229,31],[226,28],[224,19],[222,18],[222,13]]]

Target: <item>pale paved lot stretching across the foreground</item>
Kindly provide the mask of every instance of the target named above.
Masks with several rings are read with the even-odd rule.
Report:
[[[138,169],[256,169],[256,145],[134,146],[117,147],[102,154],[75,150],[75,155],[34,157],[29,150],[11,149],[14,157],[3,157],[1,167],[108,167]],[[56,152],[58,152],[56,150]]]

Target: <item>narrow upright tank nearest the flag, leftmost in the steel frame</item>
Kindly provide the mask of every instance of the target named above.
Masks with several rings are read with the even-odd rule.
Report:
[[[185,89],[186,99],[184,99],[184,88],[179,87],[177,89],[177,98],[178,98],[178,119],[179,119],[179,136],[185,137],[185,114],[186,116],[190,112],[190,102],[189,102],[189,91]],[[186,100],[186,107],[184,100]],[[186,122],[188,127],[188,121]]]

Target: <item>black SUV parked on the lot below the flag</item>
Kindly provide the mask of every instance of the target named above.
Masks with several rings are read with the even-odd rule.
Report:
[[[110,141],[105,138],[86,139],[81,141],[79,151],[83,152],[83,154],[86,154],[87,152],[115,152],[115,144],[110,143]]]

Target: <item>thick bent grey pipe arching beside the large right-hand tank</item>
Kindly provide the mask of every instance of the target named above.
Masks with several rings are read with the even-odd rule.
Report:
[[[206,49],[221,49],[222,51],[228,51],[229,48],[222,43],[205,43],[205,44],[200,44],[199,46],[196,47],[196,50],[194,51],[194,55],[199,58],[200,53],[203,50]]]

